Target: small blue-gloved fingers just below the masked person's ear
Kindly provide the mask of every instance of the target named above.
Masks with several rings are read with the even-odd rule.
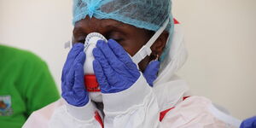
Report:
[[[151,87],[153,87],[153,82],[157,77],[159,67],[160,61],[150,61],[143,73],[144,78],[147,80]]]

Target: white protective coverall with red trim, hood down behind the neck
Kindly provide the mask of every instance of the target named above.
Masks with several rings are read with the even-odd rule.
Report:
[[[189,96],[186,82],[174,74],[187,59],[177,20],[174,27],[169,55],[161,62],[153,88],[140,84],[144,79],[139,78],[129,89],[103,96],[104,117],[92,102],[74,107],[60,99],[32,113],[23,128],[239,127],[240,120],[219,111],[207,98]]]

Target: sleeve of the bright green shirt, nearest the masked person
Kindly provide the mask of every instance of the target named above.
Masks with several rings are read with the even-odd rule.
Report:
[[[27,54],[24,58],[20,63],[22,71],[18,83],[23,86],[25,114],[28,117],[33,111],[58,100],[60,95],[46,63],[33,54]]]

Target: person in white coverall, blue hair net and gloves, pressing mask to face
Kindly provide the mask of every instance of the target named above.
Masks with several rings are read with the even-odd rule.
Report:
[[[239,127],[175,75],[187,51],[171,7],[170,0],[74,0],[63,99],[32,113],[23,127]],[[96,81],[86,76],[92,69]]]

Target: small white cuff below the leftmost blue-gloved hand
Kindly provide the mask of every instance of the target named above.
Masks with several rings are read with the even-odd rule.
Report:
[[[96,108],[92,102],[89,102],[83,107],[76,107],[66,102],[67,113],[70,113],[74,118],[80,120],[89,120],[94,118]]]

